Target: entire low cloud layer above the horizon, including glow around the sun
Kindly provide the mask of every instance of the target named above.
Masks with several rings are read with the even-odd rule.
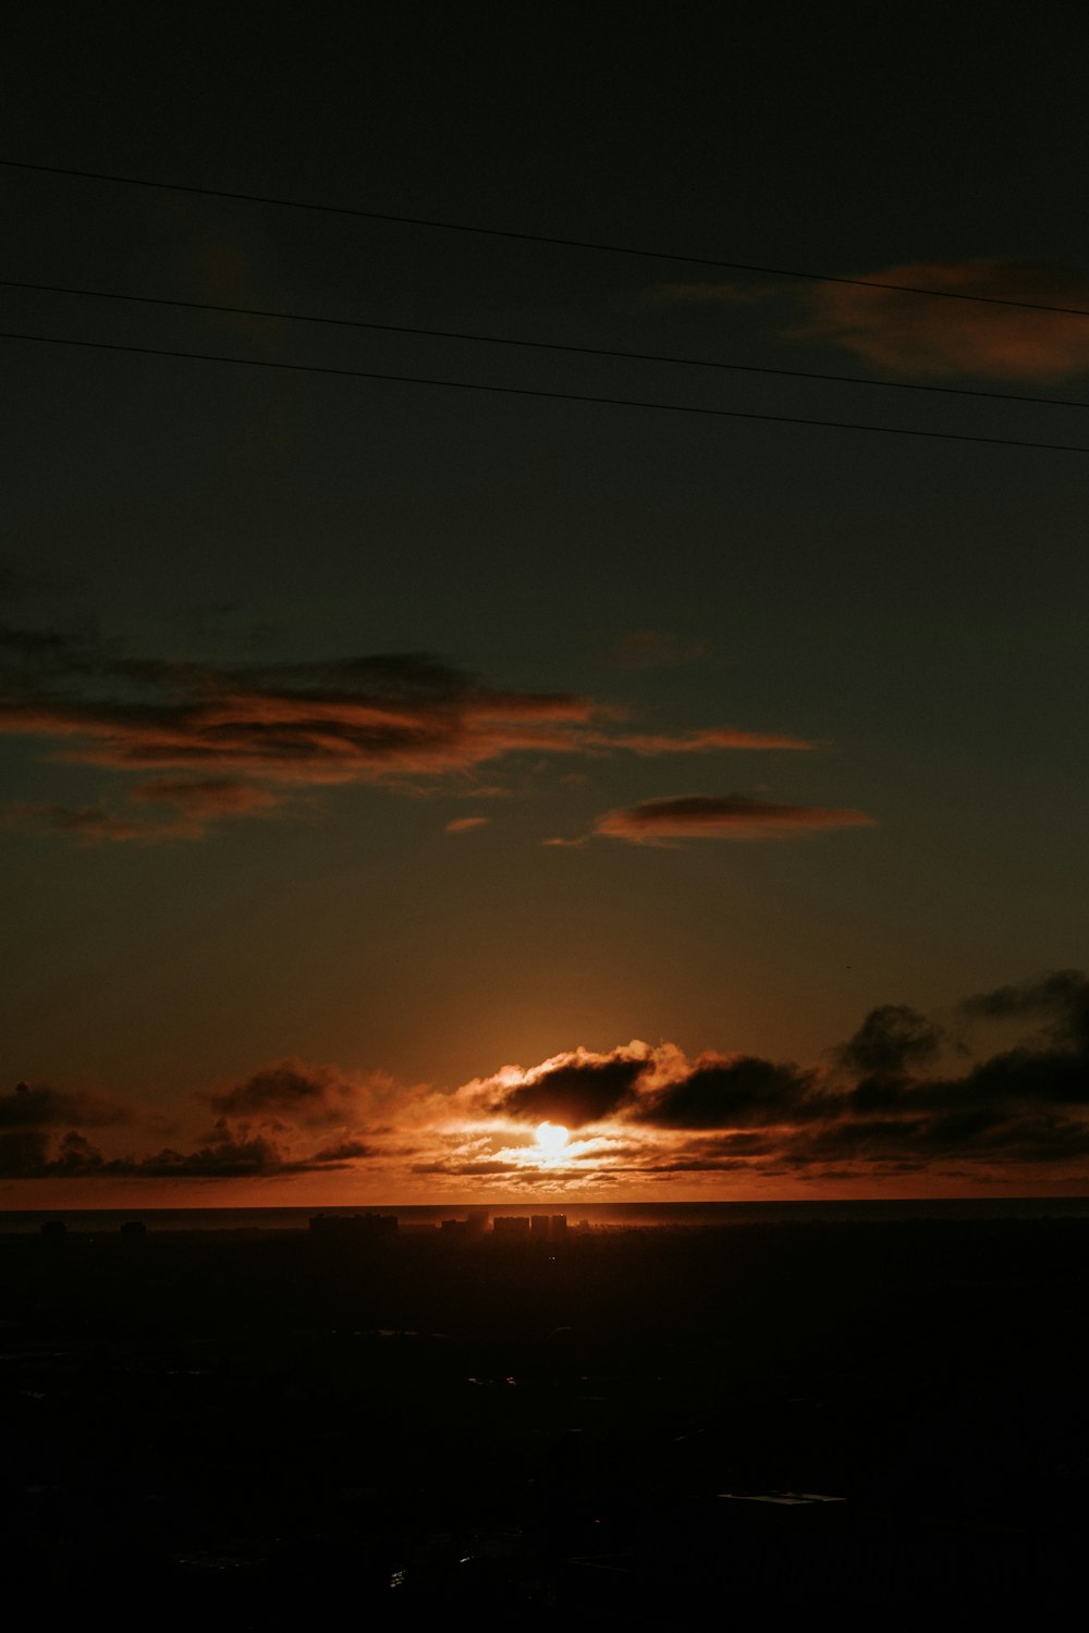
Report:
[[[903,1176],[955,1189],[1032,1190],[1045,1176],[1081,1184],[1087,1016],[1089,981],[1063,970],[973,994],[944,1026],[908,1004],[882,1004],[805,1066],[633,1042],[441,1091],[286,1060],[193,1094],[194,1133],[168,1145],[152,1138],[139,1106],[20,1084],[0,1096],[0,1177],[343,1174],[380,1179],[390,1197],[423,1176],[438,1194],[469,1181],[506,1192],[673,1182],[676,1194],[684,1182],[736,1194],[713,1190],[725,1176],[764,1190],[847,1181],[880,1189]],[[201,1132],[209,1112],[214,1127]],[[537,1141],[545,1122],[568,1132],[560,1150]]]

